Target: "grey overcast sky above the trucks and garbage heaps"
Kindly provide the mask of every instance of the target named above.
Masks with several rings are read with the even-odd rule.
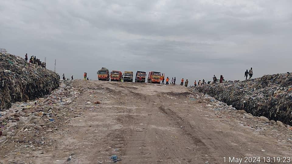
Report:
[[[66,77],[101,67],[208,81],[292,72],[291,0],[2,0],[0,48]],[[178,83],[177,82],[177,83]]]

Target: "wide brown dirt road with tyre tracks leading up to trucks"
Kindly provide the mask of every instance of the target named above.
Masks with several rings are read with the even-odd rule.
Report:
[[[91,80],[67,85],[78,92],[73,101],[51,104],[54,122],[46,121],[45,130],[27,128],[28,137],[23,128],[0,145],[0,163],[113,163],[112,155],[125,164],[292,158],[291,130],[236,110],[214,110],[214,103],[186,87]]]

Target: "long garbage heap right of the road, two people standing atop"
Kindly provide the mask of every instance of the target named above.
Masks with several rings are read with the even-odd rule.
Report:
[[[292,73],[193,88],[255,116],[292,125]]]

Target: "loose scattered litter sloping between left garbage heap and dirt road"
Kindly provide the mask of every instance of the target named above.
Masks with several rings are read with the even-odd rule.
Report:
[[[16,144],[18,149],[43,150],[50,145],[53,142],[50,134],[57,131],[57,125],[68,122],[74,110],[68,105],[80,95],[71,85],[72,81],[62,81],[58,89],[44,98],[16,102],[1,111],[0,149],[11,150],[9,144]]]

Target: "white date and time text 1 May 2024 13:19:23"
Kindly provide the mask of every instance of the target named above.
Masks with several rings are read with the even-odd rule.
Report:
[[[244,158],[236,158],[236,157],[224,157],[224,163],[290,163],[290,157],[244,157]]]

